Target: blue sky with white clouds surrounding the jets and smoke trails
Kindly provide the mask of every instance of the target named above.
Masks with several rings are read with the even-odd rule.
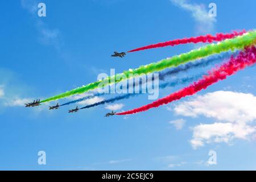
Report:
[[[214,1],[217,17],[209,19],[199,15],[212,1],[42,2],[47,16],[41,18],[33,9],[37,1],[0,2],[0,169],[256,169],[255,67],[196,96],[125,118],[104,118],[106,106],[74,114],[67,110],[76,105],[55,111],[48,105],[23,106],[96,81],[110,68],[137,68],[195,45],[134,52],[123,59],[110,57],[113,51],[255,28],[255,1]],[[183,86],[160,90],[160,97]],[[143,95],[116,104],[127,110],[149,102]],[[38,164],[41,150],[46,165]],[[216,165],[207,163],[210,150],[217,153]]]

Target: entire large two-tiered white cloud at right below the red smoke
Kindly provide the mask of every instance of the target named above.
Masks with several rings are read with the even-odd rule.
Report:
[[[249,139],[255,133],[250,126],[256,119],[256,97],[249,93],[217,91],[195,96],[176,105],[176,114],[187,117],[204,115],[219,122],[200,124],[192,128],[190,140],[193,148],[205,143],[230,143],[233,139]]]

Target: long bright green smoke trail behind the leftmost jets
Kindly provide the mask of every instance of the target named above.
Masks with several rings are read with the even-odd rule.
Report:
[[[127,78],[141,75],[143,73],[147,74],[147,73],[152,73],[156,71],[161,71],[163,69],[170,68],[170,67],[176,67],[177,65],[187,63],[188,61],[196,60],[202,57],[207,57],[209,55],[213,55],[216,53],[220,53],[228,50],[233,51],[234,49],[243,49],[246,46],[250,46],[251,44],[254,44],[256,42],[255,40],[256,40],[256,31],[251,31],[241,36],[237,36],[236,38],[233,38],[233,39],[227,39],[217,44],[208,44],[207,46],[201,47],[199,49],[194,49],[187,53],[181,53],[180,55],[176,55],[168,59],[163,59],[156,63],[143,65],[137,69],[129,69],[129,71],[124,71],[123,73],[110,76],[108,78],[105,78],[104,80],[92,82],[91,84],[81,86],[71,91],[67,91],[65,93],[61,93],[59,95],[49,97],[46,100],[43,100],[41,102],[58,100],[60,98],[72,96],[73,94],[81,94],[84,92],[88,92],[89,90],[96,89],[99,84],[102,84],[101,85],[102,87],[109,84],[114,84],[122,81],[122,79],[120,79],[122,77],[125,77],[127,79]],[[134,74],[134,76],[131,76],[129,74]]]

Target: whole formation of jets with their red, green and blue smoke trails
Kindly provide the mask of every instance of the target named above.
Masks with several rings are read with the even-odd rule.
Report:
[[[213,43],[215,42],[215,43]],[[156,63],[150,63],[147,65],[142,65],[137,69],[129,69],[129,71],[124,71],[123,73],[116,74],[114,76],[109,76],[104,78],[103,80],[98,80],[96,82],[92,82],[90,84],[81,86],[76,89],[72,89],[65,93],[58,94],[53,97],[46,98],[42,101],[34,100],[33,102],[25,104],[26,107],[35,107],[42,105],[44,102],[55,101],[61,98],[73,96],[76,94],[82,94],[89,92],[91,90],[97,89],[99,87],[116,84],[118,82],[123,81],[123,79],[117,79],[117,77],[122,77],[125,79],[134,78],[136,76],[140,76],[142,74],[148,73],[159,73],[159,80],[164,81],[159,84],[159,89],[166,88],[167,86],[176,86],[182,85],[188,82],[192,82],[191,85],[185,86],[180,90],[177,90],[170,95],[155,100],[154,102],[131,109],[128,111],[122,111],[120,113],[112,111],[111,113],[107,113],[105,117],[110,117],[112,115],[127,115],[127,114],[135,114],[140,113],[142,111],[147,111],[154,107],[159,107],[164,104],[168,104],[170,102],[180,100],[186,96],[192,96],[193,94],[199,92],[202,89],[207,89],[208,86],[215,84],[218,81],[226,79],[228,76],[232,76],[238,71],[245,69],[246,67],[250,67],[256,63],[256,31],[233,31],[230,34],[219,33],[214,35],[201,35],[192,38],[184,38],[184,39],[176,39],[170,40],[167,42],[151,44],[149,46],[139,47],[132,49],[127,52],[114,52],[113,57],[125,57],[127,53],[143,51],[146,49],[152,48],[161,48],[166,46],[177,46],[179,44],[187,44],[187,43],[210,43],[206,44],[203,47],[198,49],[193,49],[187,53],[181,53],[180,55],[175,55],[167,59],[160,60]],[[221,64],[219,64],[222,61]],[[198,68],[198,67],[207,67],[212,64],[218,64],[214,66],[214,68],[210,69],[207,73],[200,73],[195,76],[187,76],[182,78],[176,78],[176,80],[166,81],[166,78],[175,75],[180,72],[185,72],[188,69]],[[165,69],[168,69],[165,71]],[[197,80],[197,81],[196,81]],[[151,81],[154,81],[151,80]],[[138,85],[134,84],[133,88],[136,88]],[[88,100],[93,97],[102,96],[106,93],[93,93],[88,96],[81,97],[76,100],[69,101],[65,104],[59,105],[59,103],[55,106],[49,106],[50,110],[59,109],[62,106],[75,104],[77,102],[81,102],[84,100]],[[94,104],[86,105],[83,107],[76,106],[75,109],[71,109],[68,113],[76,113],[81,109],[87,109],[90,107],[113,103],[118,100],[127,99],[133,96],[138,96],[139,93],[127,93],[122,94],[121,96],[115,96],[113,98],[105,99],[100,102],[96,102]]]

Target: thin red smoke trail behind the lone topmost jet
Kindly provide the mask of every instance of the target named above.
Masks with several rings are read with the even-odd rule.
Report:
[[[135,51],[142,51],[142,50],[145,50],[145,49],[152,49],[152,48],[158,48],[158,47],[166,47],[166,46],[176,46],[176,45],[179,45],[179,44],[187,44],[187,43],[212,43],[214,41],[222,41],[222,40],[225,40],[225,39],[232,39],[238,35],[242,35],[242,34],[245,34],[246,31],[243,30],[242,32],[237,32],[237,31],[233,31],[232,34],[216,34],[216,36],[213,36],[213,35],[201,35],[201,36],[197,36],[195,38],[184,38],[184,39],[176,39],[176,40],[170,40],[170,41],[167,41],[167,42],[162,42],[162,43],[157,43],[157,44],[152,44],[152,45],[149,45],[149,46],[144,46],[144,47],[140,47],[140,48],[137,48],[137,49],[133,49],[131,51],[128,51],[128,52],[135,52]]]

